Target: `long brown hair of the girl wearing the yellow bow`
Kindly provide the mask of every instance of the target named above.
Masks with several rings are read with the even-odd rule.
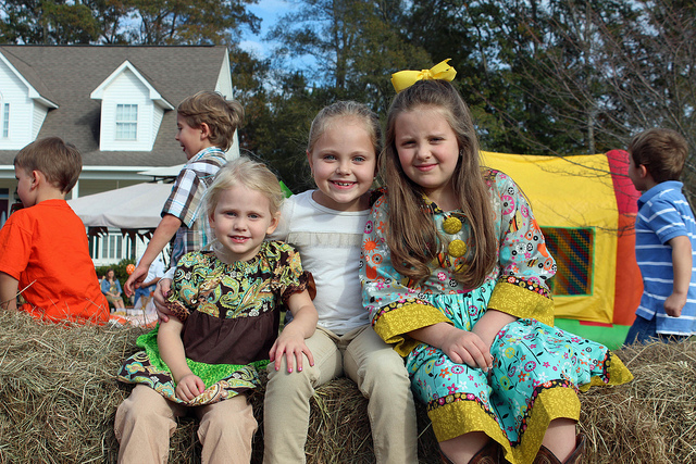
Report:
[[[395,145],[396,120],[405,112],[431,108],[440,112],[457,136],[460,156],[451,185],[458,208],[471,228],[468,265],[455,278],[469,288],[483,284],[497,259],[497,240],[490,198],[478,164],[478,140],[467,103],[445,80],[421,80],[397,93],[387,115],[385,148],[380,163],[387,187],[389,216],[386,238],[394,268],[422,281],[431,275],[427,264],[442,251],[444,241],[430,214],[423,211],[423,189],[403,172]]]

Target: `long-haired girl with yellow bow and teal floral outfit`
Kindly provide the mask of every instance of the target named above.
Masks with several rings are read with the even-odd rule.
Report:
[[[606,347],[554,327],[556,264],[527,200],[480,167],[453,86],[407,73],[423,79],[389,109],[386,190],[362,244],[374,329],[406,358],[445,463],[579,462],[577,391],[632,375]]]

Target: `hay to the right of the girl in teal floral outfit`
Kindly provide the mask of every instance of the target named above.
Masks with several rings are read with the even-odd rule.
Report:
[[[617,354],[634,380],[581,396],[587,463],[696,462],[696,340]]]

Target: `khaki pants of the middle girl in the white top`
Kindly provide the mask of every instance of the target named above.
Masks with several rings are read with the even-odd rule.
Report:
[[[314,389],[345,374],[368,398],[377,463],[417,463],[415,407],[401,356],[364,326],[343,337],[316,328],[307,339],[314,366],[307,359],[302,372],[276,372],[269,365],[265,390],[264,464],[304,463],[309,400]]]

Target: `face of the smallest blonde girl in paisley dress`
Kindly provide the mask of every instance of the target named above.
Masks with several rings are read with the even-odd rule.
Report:
[[[225,248],[224,261],[228,264],[251,260],[277,224],[269,199],[241,185],[224,190],[210,216],[210,226]]]

